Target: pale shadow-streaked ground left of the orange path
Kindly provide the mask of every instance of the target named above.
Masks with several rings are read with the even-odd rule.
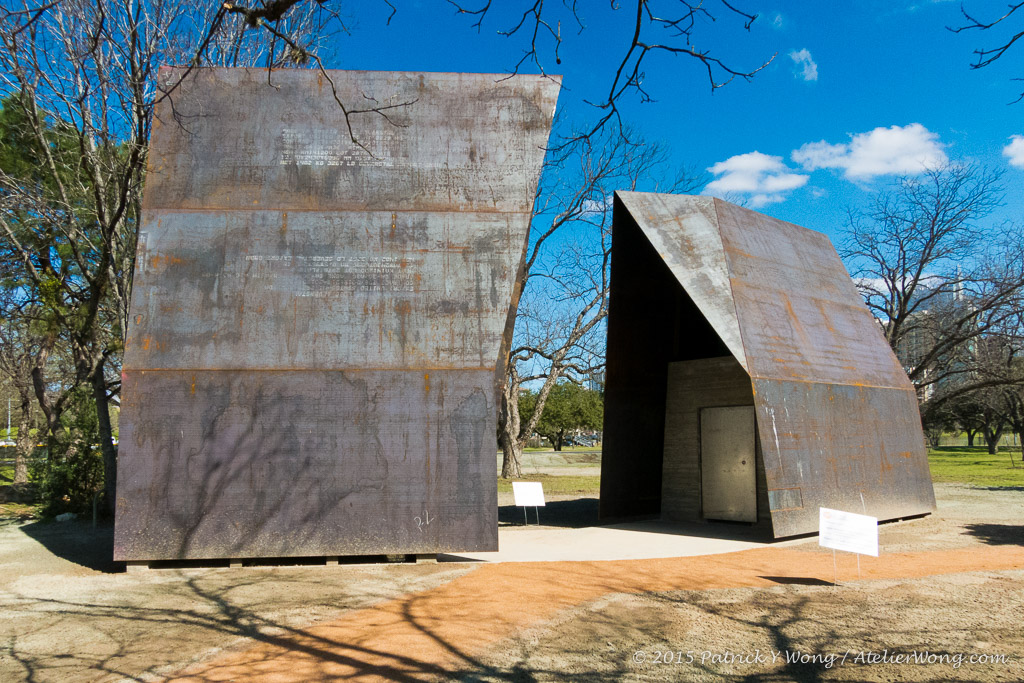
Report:
[[[429,590],[470,570],[434,564],[151,569],[109,558],[113,529],[0,526],[0,681],[159,680],[245,643]]]

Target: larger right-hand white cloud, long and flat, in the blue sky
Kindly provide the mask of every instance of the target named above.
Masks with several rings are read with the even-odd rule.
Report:
[[[848,180],[869,180],[878,175],[913,175],[946,163],[939,136],[920,123],[876,128],[850,136],[850,142],[808,142],[791,158],[813,171],[843,169]],[[1022,144],[1024,147],[1024,144]]]

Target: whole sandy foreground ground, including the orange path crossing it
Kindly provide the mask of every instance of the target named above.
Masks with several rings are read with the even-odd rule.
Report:
[[[813,541],[667,560],[125,574],[105,560],[109,529],[8,523],[0,680],[1024,680],[1024,492],[936,493],[938,515],[883,527],[861,580],[841,555],[838,588]],[[547,510],[553,525],[593,506],[564,507],[575,518]],[[925,663],[892,661],[912,652]]]

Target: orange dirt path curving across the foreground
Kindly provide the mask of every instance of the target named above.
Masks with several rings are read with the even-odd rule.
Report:
[[[815,550],[765,548],[665,560],[488,564],[432,590],[354,611],[279,643],[214,658],[168,680],[443,678],[476,661],[495,643],[608,594],[830,582],[833,556]],[[861,558],[864,580],[1006,569],[1024,569],[1024,548]],[[842,558],[840,574],[856,577],[853,556]]]

